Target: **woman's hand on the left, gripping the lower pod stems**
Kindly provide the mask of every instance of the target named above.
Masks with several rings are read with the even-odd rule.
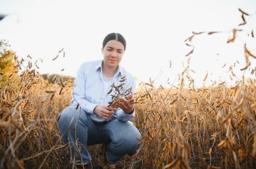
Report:
[[[94,108],[94,114],[102,117],[103,119],[110,119],[117,108],[108,107],[108,105],[97,105]]]

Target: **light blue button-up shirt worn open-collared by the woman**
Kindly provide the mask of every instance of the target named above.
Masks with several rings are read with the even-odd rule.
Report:
[[[121,84],[119,80],[122,76],[126,76],[127,78],[127,80],[125,80],[124,89],[132,87],[134,95],[136,87],[135,78],[133,78],[133,76],[120,65],[118,66],[117,72],[113,76],[110,84],[113,84],[113,82],[115,82],[116,86]],[[77,106],[78,103],[90,118],[96,122],[110,120],[103,119],[93,112],[97,105],[108,105],[108,102],[112,101],[112,97],[110,96],[111,93],[108,95],[108,91],[110,91],[111,87],[109,85],[107,87],[108,89],[104,89],[106,87],[103,80],[102,60],[84,62],[77,72],[75,84],[71,93],[71,105]],[[129,121],[134,117],[135,111],[129,115],[125,113],[123,109],[118,108],[111,119],[117,118],[120,121]]]

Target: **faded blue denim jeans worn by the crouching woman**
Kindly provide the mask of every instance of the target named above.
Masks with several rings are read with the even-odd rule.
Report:
[[[141,135],[131,121],[113,119],[96,123],[82,109],[69,106],[59,113],[58,123],[63,141],[71,142],[71,152],[80,164],[89,164],[92,160],[87,146],[107,144],[106,160],[112,164],[139,148],[137,139],[141,139]]]

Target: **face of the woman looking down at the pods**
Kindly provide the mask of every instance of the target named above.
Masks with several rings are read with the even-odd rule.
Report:
[[[104,66],[107,68],[117,68],[125,53],[124,46],[117,40],[110,40],[102,50]]]

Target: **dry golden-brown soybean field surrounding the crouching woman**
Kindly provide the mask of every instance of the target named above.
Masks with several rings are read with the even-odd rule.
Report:
[[[241,13],[245,25],[247,13]],[[234,42],[238,31],[231,31],[228,43]],[[216,33],[193,32],[185,41],[192,47],[188,62],[195,48],[193,37]],[[254,78],[236,80],[232,87],[220,82],[196,88],[189,66],[180,74],[177,88],[155,87],[152,80],[141,82],[133,119],[142,135],[141,146],[117,166],[256,168],[256,68],[249,57],[256,58],[245,44],[247,65],[241,70],[250,71]],[[71,101],[73,81],[61,76],[49,83],[37,67],[29,57],[15,56],[15,69],[5,74],[7,81],[0,74],[0,168],[65,168],[72,160],[69,145],[61,140],[57,115]],[[230,78],[237,79],[231,66],[230,73]],[[90,146],[89,151],[92,165],[100,168],[100,145]]]

